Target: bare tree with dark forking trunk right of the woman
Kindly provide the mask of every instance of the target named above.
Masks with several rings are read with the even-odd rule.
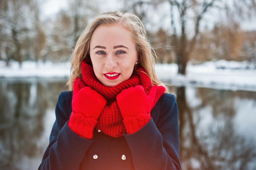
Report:
[[[173,46],[177,46],[177,64],[178,73],[186,74],[186,66],[189,61],[191,52],[195,47],[195,42],[197,35],[199,33],[200,23],[203,19],[205,13],[207,13],[211,8],[216,7],[215,2],[218,0],[211,0],[209,2],[198,2],[196,0],[182,0],[178,2],[176,0],[169,0],[168,2],[172,7],[177,7],[177,11],[180,15],[180,29],[181,35],[178,38],[177,32],[173,34]],[[190,18],[189,13],[193,13],[193,18]],[[173,11],[171,11],[171,16],[173,16]],[[187,22],[189,19],[194,20],[193,35],[191,40],[188,38],[188,33],[186,32]],[[174,18],[171,18],[173,29],[176,30],[174,25]]]

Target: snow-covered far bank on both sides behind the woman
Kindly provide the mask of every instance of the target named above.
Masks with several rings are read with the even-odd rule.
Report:
[[[177,73],[177,64],[157,64],[157,76],[175,86],[196,86],[225,90],[256,91],[256,64],[248,62],[228,62],[225,60],[188,64],[187,74]],[[63,78],[70,76],[70,63],[52,62],[11,62],[10,66],[0,61],[0,78],[25,79]]]

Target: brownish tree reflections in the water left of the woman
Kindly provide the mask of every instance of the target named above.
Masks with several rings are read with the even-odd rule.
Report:
[[[60,86],[64,89],[65,83],[0,81],[0,169],[25,169],[25,160],[37,161],[34,167],[29,165],[36,169],[45,150],[39,140],[44,116],[47,108],[55,106]]]

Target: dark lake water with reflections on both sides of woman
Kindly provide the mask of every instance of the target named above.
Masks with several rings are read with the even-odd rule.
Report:
[[[0,79],[0,169],[38,168],[67,79]],[[256,169],[256,92],[176,87],[184,170]]]

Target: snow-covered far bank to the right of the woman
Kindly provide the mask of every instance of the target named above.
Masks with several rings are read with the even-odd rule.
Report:
[[[256,65],[245,62],[205,62],[188,64],[186,75],[177,74],[176,64],[160,64],[157,75],[175,86],[196,86],[225,90],[256,91]]]

